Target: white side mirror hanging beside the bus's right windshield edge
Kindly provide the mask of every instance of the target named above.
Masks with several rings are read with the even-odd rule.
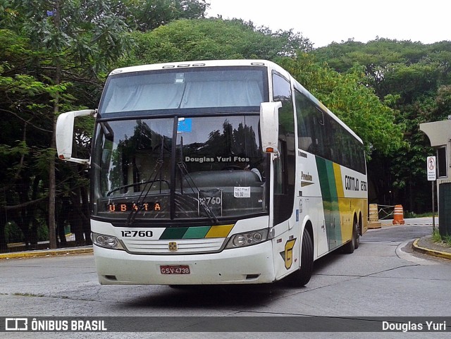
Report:
[[[278,154],[280,101],[260,104],[261,147],[265,153]]]

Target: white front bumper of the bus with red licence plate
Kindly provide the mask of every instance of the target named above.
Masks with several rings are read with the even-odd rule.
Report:
[[[272,283],[272,253],[271,241],[220,253],[183,255],[130,254],[94,245],[99,283],[105,285]]]

